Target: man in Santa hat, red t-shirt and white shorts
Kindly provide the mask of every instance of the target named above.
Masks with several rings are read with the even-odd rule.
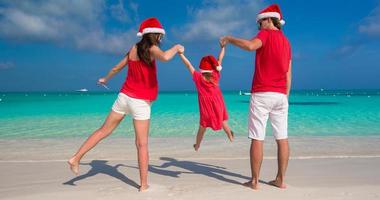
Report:
[[[291,49],[281,31],[285,22],[278,5],[271,5],[257,15],[259,33],[252,40],[225,36],[220,45],[232,44],[247,51],[256,50],[255,73],[252,81],[248,137],[251,139],[250,160],[252,179],[244,183],[258,189],[263,160],[263,141],[268,117],[277,142],[278,172],[269,183],[286,188],[285,172],[289,160],[288,97],[291,86]]]

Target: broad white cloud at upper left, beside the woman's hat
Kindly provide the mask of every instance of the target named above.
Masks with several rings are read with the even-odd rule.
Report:
[[[107,31],[108,18],[133,23],[123,1],[107,10],[105,0],[3,1],[0,37],[18,41],[45,41],[107,53],[125,53],[135,40],[129,30]],[[131,7],[136,18],[137,4]]]

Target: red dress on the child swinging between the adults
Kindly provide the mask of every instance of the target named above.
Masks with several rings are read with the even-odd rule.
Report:
[[[219,72],[213,72],[213,77],[216,84],[204,80],[202,73],[198,71],[193,73],[193,81],[198,91],[200,125],[216,131],[222,129],[223,121],[228,119],[228,114],[218,85]]]

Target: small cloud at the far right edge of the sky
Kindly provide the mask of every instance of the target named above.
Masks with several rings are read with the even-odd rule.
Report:
[[[371,37],[380,37],[380,6],[377,6],[359,26],[359,32]]]

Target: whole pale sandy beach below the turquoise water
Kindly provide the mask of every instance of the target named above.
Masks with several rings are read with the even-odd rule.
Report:
[[[286,190],[265,184],[277,170],[267,138],[258,191],[240,185],[250,176],[248,139],[206,136],[195,153],[193,138],[152,138],[144,193],[131,138],[106,139],[73,176],[66,159],[83,140],[0,140],[0,199],[380,199],[380,137],[291,138]]]

